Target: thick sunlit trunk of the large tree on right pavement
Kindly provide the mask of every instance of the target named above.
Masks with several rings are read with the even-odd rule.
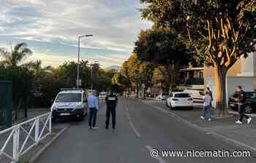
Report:
[[[214,66],[214,77],[215,77],[215,95],[216,95],[216,110],[214,111],[215,116],[227,116],[227,92],[226,92],[226,74],[227,70]]]

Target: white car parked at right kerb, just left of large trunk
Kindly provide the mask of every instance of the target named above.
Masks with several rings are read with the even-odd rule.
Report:
[[[193,98],[187,92],[172,92],[166,99],[166,106],[173,110],[177,107],[193,109]]]

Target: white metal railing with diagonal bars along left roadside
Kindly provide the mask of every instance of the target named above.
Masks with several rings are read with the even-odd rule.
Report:
[[[29,126],[29,127],[28,127]],[[20,132],[25,133],[23,141]],[[29,149],[51,134],[51,113],[42,114],[26,122],[17,124],[0,132],[1,135],[7,135],[3,146],[0,146],[0,162],[3,157],[11,160],[12,163],[18,162],[20,156],[25,154]],[[12,142],[11,142],[12,140]],[[30,141],[30,142],[29,142]],[[29,142],[29,143],[28,143]],[[20,146],[21,145],[21,146]],[[7,150],[12,151],[8,154]]]

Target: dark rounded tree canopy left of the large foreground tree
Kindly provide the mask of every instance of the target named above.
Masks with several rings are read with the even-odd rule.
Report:
[[[140,60],[159,65],[172,62],[186,65],[191,60],[186,45],[178,39],[176,33],[166,28],[141,31],[134,52]]]

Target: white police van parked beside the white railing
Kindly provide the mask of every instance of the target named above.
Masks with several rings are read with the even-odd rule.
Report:
[[[61,117],[74,117],[82,121],[87,115],[86,92],[80,88],[62,88],[50,110],[53,122]]]

